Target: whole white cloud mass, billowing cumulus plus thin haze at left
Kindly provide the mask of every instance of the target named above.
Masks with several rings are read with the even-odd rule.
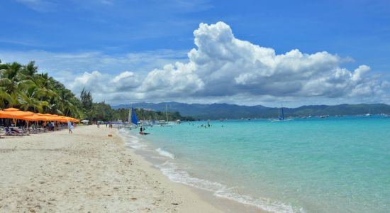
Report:
[[[187,53],[186,60],[182,52],[173,50],[116,56],[40,51],[34,54],[38,60],[29,60],[54,70],[54,76],[67,81],[74,92],[86,87],[97,101],[113,104],[172,100],[236,104],[281,100],[302,104],[389,102],[386,89],[390,83],[372,75],[367,65],[355,70],[342,67],[351,58],[325,51],[277,54],[272,48],[235,38],[223,22],[201,23],[194,31],[194,43],[196,48]],[[0,53],[0,58],[9,55]],[[11,55],[27,58],[25,53]]]

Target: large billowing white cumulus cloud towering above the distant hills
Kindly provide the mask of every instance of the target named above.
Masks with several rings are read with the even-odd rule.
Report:
[[[341,58],[327,52],[313,54],[291,50],[277,54],[235,38],[227,24],[201,23],[194,31],[196,48],[187,62],[167,64],[140,77],[123,72],[107,80],[100,72],[77,77],[73,88],[101,84],[100,92],[121,93],[138,99],[174,99],[177,97],[306,97],[342,98],[386,95],[389,82],[369,74],[370,67],[360,65],[347,70]],[[99,92],[96,91],[96,92]]]

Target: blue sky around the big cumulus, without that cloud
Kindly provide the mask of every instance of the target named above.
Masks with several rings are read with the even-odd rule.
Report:
[[[337,66],[353,72],[359,65],[367,65],[371,67],[370,75],[390,79],[389,0],[6,0],[1,3],[0,13],[3,17],[0,59],[3,62],[35,60],[43,72],[58,77],[69,87],[74,81],[69,75],[76,77],[96,70],[110,75],[130,71],[145,77],[165,64],[187,62],[189,50],[197,48],[193,32],[199,28],[199,23],[218,21],[230,26],[235,38],[272,48],[276,54],[294,49],[307,54],[327,51],[349,58],[349,62],[340,62]],[[62,61],[48,60],[57,55],[62,55]],[[82,55],[85,60],[77,64],[74,55],[78,59]],[[128,55],[132,56],[130,60],[127,60]],[[91,60],[86,62],[89,58]],[[123,58],[126,60],[122,61]],[[116,62],[99,62],[99,59]],[[234,95],[244,94],[241,91]],[[209,102],[204,98],[208,96],[194,95],[200,102]],[[303,103],[301,99],[295,100],[294,95],[272,96]],[[218,100],[233,102],[231,97],[222,94]],[[169,95],[158,100],[191,102]],[[359,102],[359,99],[313,97],[316,103],[343,101]],[[372,101],[386,102],[386,99]],[[256,103],[248,101],[247,104]]]

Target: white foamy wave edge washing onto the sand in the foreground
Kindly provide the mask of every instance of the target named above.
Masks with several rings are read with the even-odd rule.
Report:
[[[296,208],[282,202],[276,202],[262,197],[254,198],[250,197],[249,195],[240,195],[237,192],[233,192],[232,188],[229,188],[228,186],[222,185],[218,182],[191,177],[189,173],[184,170],[180,170],[177,168],[177,165],[169,161],[162,163],[161,165],[157,165],[157,168],[159,168],[162,173],[173,182],[179,182],[185,185],[190,185],[192,187],[197,187],[202,190],[213,192],[213,195],[216,197],[223,197],[225,199],[234,200],[243,204],[249,204],[269,212],[304,212],[304,210],[301,208]]]

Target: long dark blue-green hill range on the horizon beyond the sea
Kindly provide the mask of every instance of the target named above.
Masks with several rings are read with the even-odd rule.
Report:
[[[136,103],[135,108],[152,109],[155,111],[178,111],[182,116],[192,116],[196,119],[241,119],[241,118],[272,118],[278,116],[277,107],[240,106],[236,104],[184,104],[178,102]],[[113,109],[128,109],[128,104],[111,106]],[[284,116],[321,116],[321,115],[359,115],[359,114],[390,114],[387,104],[340,104],[335,106],[311,105],[297,108],[284,108]]]

